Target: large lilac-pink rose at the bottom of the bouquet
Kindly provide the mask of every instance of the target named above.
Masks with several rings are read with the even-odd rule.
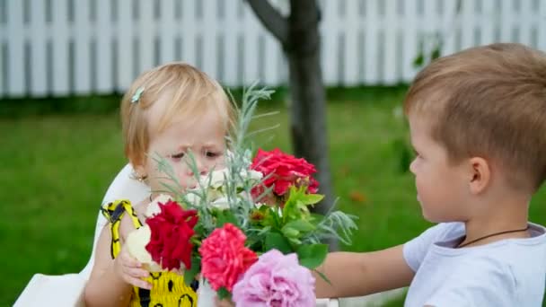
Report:
[[[233,286],[237,306],[314,306],[314,277],[295,254],[269,250]]]

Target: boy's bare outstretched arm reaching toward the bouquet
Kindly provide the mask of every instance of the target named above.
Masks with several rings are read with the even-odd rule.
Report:
[[[406,263],[402,248],[328,254],[317,270],[330,284],[313,273],[317,297],[362,296],[410,285],[415,273]]]

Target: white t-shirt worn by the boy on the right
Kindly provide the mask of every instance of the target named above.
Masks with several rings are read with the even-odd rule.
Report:
[[[464,224],[437,224],[404,245],[416,272],[405,306],[542,306],[546,229],[529,224],[530,238],[455,249]]]

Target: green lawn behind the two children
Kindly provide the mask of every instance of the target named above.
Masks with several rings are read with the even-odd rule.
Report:
[[[329,92],[330,161],[339,207],[358,215],[359,231],[346,250],[401,244],[430,224],[415,197],[413,178],[401,171],[408,131],[393,110],[402,89]],[[280,123],[257,142],[290,151],[284,104],[253,128]],[[0,305],[10,305],[34,273],[78,272],[89,259],[101,198],[120,168],[118,114],[70,113],[0,119]],[[272,139],[266,140],[272,136]],[[534,198],[531,220],[546,224],[544,189]],[[395,301],[392,306],[400,305]]]

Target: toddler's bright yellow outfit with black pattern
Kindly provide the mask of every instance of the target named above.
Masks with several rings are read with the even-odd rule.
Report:
[[[119,224],[121,218],[127,212],[131,217],[135,228],[142,226],[138,220],[137,213],[128,200],[116,200],[104,204],[101,207],[102,215],[110,221],[110,232],[112,236],[110,253],[112,259],[115,259],[121,250],[121,241],[119,241]],[[184,283],[184,277],[174,272],[154,272],[144,278],[152,285],[152,290],[133,287],[133,296],[129,306],[131,307],[167,307],[197,306],[198,282],[194,281],[190,286]]]

